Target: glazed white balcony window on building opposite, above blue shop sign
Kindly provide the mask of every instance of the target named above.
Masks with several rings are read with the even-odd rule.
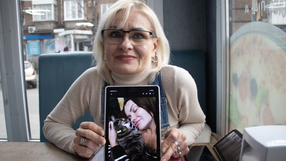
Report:
[[[57,21],[57,6],[54,4],[33,5],[33,21]]]

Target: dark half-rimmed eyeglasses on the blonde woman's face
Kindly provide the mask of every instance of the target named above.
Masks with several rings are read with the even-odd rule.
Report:
[[[154,38],[156,38],[153,32],[142,31],[142,30],[122,31],[122,30],[107,29],[107,30],[102,30],[101,33],[104,36],[104,40],[110,44],[119,44],[123,39],[123,33],[129,34],[129,40],[133,45],[148,44],[151,35]]]

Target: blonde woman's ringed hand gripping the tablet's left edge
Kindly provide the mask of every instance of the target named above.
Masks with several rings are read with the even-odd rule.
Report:
[[[94,122],[82,122],[76,130],[73,150],[83,158],[90,158],[92,154],[105,144],[104,129]],[[87,138],[85,146],[81,144],[82,138]]]

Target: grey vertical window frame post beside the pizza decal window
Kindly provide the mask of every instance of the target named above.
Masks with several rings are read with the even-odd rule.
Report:
[[[229,109],[229,0],[217,0],[217,128],[216,133],[228,132]]]

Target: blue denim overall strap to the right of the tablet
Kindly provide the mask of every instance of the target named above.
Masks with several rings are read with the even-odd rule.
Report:
[[[155,80],[151,83],[151,85],[158,85],[160,87],[161,128],[170,127],[168,119],[167,99],[164,93],[161,70],[159,71],[159,74],[156,76]]]

